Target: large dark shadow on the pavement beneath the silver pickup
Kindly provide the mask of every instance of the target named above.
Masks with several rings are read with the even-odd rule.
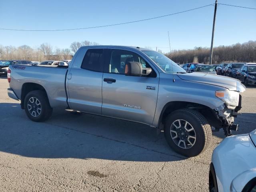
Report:
[[[162,162],[184,160],[154,128],[68,111],[32,122],[17,103],[0,103],[0,151],[33,158],[97,158]]]

